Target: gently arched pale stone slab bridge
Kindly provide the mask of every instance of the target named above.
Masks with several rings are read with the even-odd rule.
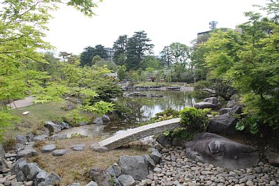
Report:
[[[174,118],[166,121],[160,121],[157,123],[151,123],[142,127],[136,127],[131,130],[116,134],[110,138],[100,141],[98,145],[100,147],[107,147],[109,149],[119,148],[124,144],[128,144],[132,141],[149,137],[154,134],[160,134],[166,130],[174,130],[177,127],[182,127],[179,123],[180,118]]]

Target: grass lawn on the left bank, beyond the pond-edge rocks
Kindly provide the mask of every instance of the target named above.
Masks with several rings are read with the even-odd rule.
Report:
[[[13,129],[6,130],[3,137],[15,137],[17,134],[32,132],[43,126],[43,121],[54,121],[67,117],[70,111],[61,109],[63,106],[66,106],[66,102],[33,104],[19,109],[21,112],[30,111],[27,115],[20,114],[14,109],[12,114],[20,118],[20,123],[15,123]]]

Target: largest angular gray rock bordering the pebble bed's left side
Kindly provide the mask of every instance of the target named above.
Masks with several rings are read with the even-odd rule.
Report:
[[[144,180],[149,175],[148,163],[142,156],[121,156],[119,166],[123,174],[130,175],[135,180]]]

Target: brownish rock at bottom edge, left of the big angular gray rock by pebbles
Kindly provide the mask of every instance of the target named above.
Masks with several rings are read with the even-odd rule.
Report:
[[[112,177],[108,171],[98,167],[92,167],[89,172],[92,179],[96,181],[98,185],[112,186],[112,182],[110,181]]]

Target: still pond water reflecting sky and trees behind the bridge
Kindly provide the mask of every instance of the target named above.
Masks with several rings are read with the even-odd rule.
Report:
[[[116,101],[130,109],[127,118],[111,121],[107,125],[84,125],[63,130],[61,134],[70,136],[79,133],[86,136],[105,135],[112,136],[116,132],[136,127],[137,123],[149,121],[156,113],[169,107],[181,110],[184,107],[193,107],[196,102],[188,91],[140,91],[146,97],[120,97]],[[160,95],[161,97],[152,97]],[[163,97],[162,97],[163,96]]]

